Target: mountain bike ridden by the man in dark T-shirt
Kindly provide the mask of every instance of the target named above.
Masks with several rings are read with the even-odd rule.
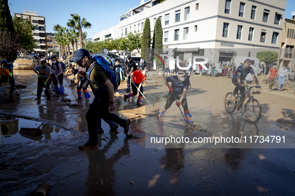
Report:
[[[224,106],[227,112],[233,113],[236,108],[242,108],[243,102],[248,98],[244,106],[244,115],[246,120],[251,122],[258,122],[262,115],[262,108],[260,102],[253,98],[252,89],[255,87],[250,87],[245,85],[246,93],[240,94],[236,97],[236,100],[233,100],[233,93],[227,93],[224,98]],[[258,88],[258,86],[256,86]],[[246,95],[246,96],[245,96]],[[245,98],[243,98],[245,96]]]

